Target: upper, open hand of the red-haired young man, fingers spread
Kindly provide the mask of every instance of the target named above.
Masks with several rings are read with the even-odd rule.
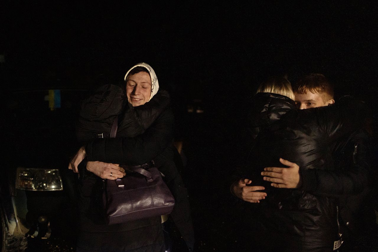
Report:
[[[272,187],[276,188],[299,188],[302,185],[302,179],[299,174],[299,166],[296,163],[280,159],[283,165],[288,168],[266,167],[261,173],[264,180],[273,182]]]

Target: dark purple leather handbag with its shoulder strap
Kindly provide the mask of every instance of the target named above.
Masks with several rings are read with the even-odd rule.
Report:
[[[118,118],[110,137],[115,137]],[[107,224],[166,215],[172,212],[175,199],[164,183],[160,171],[148,164],[121,165],[126,171],[122,179],[105,180],[102,202]]]

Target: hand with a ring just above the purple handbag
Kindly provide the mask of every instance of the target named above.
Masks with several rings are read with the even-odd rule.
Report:
[[[115,180],[126,175],[125,170],[115,163],[104,163],[100,161],[88,161],[87,170],[101,177],[102,179]]]

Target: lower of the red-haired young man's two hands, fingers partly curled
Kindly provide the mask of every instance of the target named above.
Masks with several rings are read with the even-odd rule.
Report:
[[[248,186],[252,181],[249,179],[240,179],[235,181],[231,185],[231,193],[236,197],[242,199],[243,201],[248,201],[251,203],[260,203],[260,199],[265,199],[266,193],[258,190],[264,190],[265,187],[262,186]]]

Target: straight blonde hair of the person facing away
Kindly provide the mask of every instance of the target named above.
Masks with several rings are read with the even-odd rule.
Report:
[[[279,95],[285,95],[291,100],[295,100],[294,92],[291,88],[291,83],[283,77],[272,76],[266,81],[262,82],[257,89],[256,93],[276,93]]]

